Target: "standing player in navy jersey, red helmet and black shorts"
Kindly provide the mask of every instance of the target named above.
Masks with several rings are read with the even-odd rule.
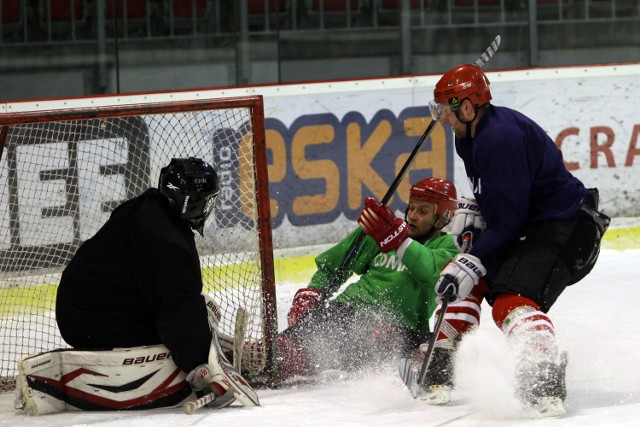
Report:
[[[452,223],[466,253],[443,269],[436,292],[440,298],[453,293],[454,309],[476,296],[477,321],[486,298],[516,352],[518,395],[543,415],[562,416],[566,355],[559,354],[547,312],[593,268],[609,218],[597,211],[597,189],[569,173],[545,131],[522,113],[491,105],[491,99],[487,76],[467,64],[443,75],[430,104],[434,119],[455,134],[475,196],[460,200]],[[436,349],[459,339],[447,315],[444,320]],[[454,329],[461,324],[453,321]],[[451,385],[451,354],[434,352],[427,386]],[[444,377],[438,365],[448,366]]]

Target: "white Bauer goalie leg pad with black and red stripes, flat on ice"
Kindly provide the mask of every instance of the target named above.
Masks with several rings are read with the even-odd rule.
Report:
[[[55,350],[19,362],[16,407],[33,415],[178,406],[194,397],[162,346]]]

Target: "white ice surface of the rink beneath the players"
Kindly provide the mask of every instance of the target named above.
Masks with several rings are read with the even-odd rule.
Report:
[[[592,273],[568,288],[549,315],[569,352],[567,415],[540,419],[512,397],[512,361],[483,305],[482,325],[460,348],[453,402],[414,400],[394,369],[359,380],[297,389],[261,390],[261,407],[180,408],[138,412],[16,414],[13,394],[0,395],[1,426],[572,426],[640,425],[640,249],[603,250]],[[278,286],[280,324],[294,291]]]

